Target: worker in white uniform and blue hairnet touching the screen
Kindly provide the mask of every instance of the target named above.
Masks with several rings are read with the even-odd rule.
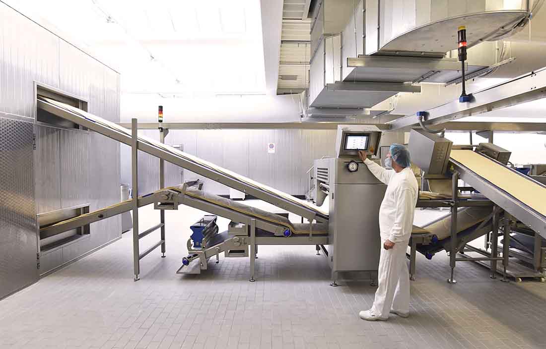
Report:
[[[399,144],[390,146],[384,169],[359,152],[371,173],[387,184],[379,208],[378,287],[370,310],[360,311],[364,320],[387,320],[389,313],[401,317],[410,315],[410,274],[406,264],[406,249],[413,227],[413,214],[419,194],[417,179],[410,169],[410,152]],[[389,169],[390,168],[390,169]]]

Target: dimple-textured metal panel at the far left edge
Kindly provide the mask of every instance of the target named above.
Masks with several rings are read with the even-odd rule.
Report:
[[[33,124],[0,118],[0,298],[38,280]]]

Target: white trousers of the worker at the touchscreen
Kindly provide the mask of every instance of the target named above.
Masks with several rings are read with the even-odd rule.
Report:
[[[396,243],[385,250],[381,244],[378,287],[372,310],[379,317],[389,317],[390,309],[410,311],[410,273],[406,262],[407,242]]]

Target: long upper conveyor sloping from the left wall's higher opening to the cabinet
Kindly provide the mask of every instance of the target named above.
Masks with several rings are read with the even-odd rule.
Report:
[[[103,118],[40,95],[37,98],[37,106],[39,109],[48,111],[58,117],[79,124],[82,127],[108,136],[111,139],[126,145],[131,145],[131,130],[122,128]],[[238,173],[212,164],[209,161],[181,152],[178,149],[164,145],[161,142],[144,136],[138,136],[138,149],[168,161],[169,163],[178,165],[186,170],[195,172],[200,176],[210,178],[218,183],[227,185],[230,188],[245,192],[247,195],[252,195],[260,200],[274,204],[288,212],[303,216],[310,221],[313,219],[318,222],[328,221],[328,212],[325,212],[320,207],[314,206],[312,203],[300,200],[262,183],[258,183],[250,178],[241,176]]]

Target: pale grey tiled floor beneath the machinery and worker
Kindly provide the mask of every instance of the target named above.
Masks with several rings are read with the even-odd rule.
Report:
[[[159,251],[146,256],[138,282],[126,233],[0,301],[0,348],[546,347],[545,284],[505,284],[476,264],[459,263],[459,282],[450,285],[445,254],[419,257],[411,317],[387,322],[360,320],[375,288],[330,287],[327,261],[314,246],[260,247],[254,283],[247,258],[221,257],[204,274],[177,275],[189,225],[202,214],[167,212],[167,258]],[[420,211],[416,222],[432,215]],[[157,217],[141,210],[142,230]],[[219,223],[222,229],[227,221]]]

